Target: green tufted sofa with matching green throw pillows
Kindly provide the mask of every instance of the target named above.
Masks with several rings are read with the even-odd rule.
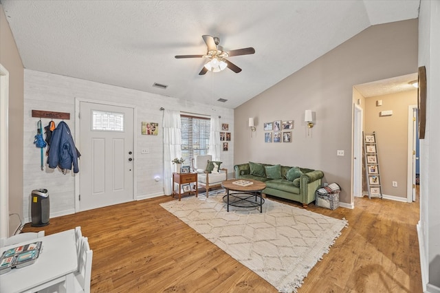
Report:
[[[304,208],[315,200],[324,173],[319,170],[249,162],[234,166],[236,179],[265,182],[263,193],[294,200]]]

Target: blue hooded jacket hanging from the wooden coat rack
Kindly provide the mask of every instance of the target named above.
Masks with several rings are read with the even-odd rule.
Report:
[[[74,173],[78,173],[80,171],[78,168],[79,156],[69,127],[64,121],[61,121],[50,139],[49,158],[47,159],[49,168],[55,169],[56,166],[59,166],[64,172],[72,170],[73,164]]]

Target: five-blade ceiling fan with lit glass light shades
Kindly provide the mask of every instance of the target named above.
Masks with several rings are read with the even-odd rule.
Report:
[[[220,39],[217,36],[209,36],[207,34],[201,36],[203,41],[205,41],[206,46],[208,47],[208,52],[205,55],[177,55],[175,58],[208,58],[210,61],[206,63],[199,75],[206,74],[208,71],[212,72],[220,72],[221,70],[228,67],[235,73],[241,72],[241,68],[236,66],[234,63],[228,61],[228,57],[239,56],[239,55],[248,55],[254,54],[255,49],[253,47],[223,51],[223,47],[219,45]]]

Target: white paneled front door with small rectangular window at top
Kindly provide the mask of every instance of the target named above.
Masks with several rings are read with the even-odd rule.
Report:
[[[133,108],[80,102],[80,208],[133,200]]]

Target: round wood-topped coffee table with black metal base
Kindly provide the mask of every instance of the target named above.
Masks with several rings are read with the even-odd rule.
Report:
[[[252,184],[249,184],[249,182],[252,182]],[[263,213],[264,199],[261,191],[266,188],[264,182],[251,179],[231,179],[221,182],[221,187],[226,189],[226,195],[223,196],[223,201],[227,204],[228,212],[229,206],[237,206],[239,208],[255,208],[259,206],[260,213]],[[230,193],[230,191],[235,192]]]

